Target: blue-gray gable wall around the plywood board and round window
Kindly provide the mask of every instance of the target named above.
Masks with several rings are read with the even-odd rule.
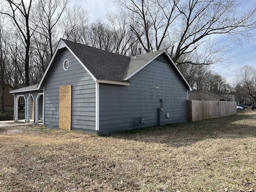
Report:
[[[68,70],[63,69],[65,59]],[[58,56],[49,70],[44,86],[44,125],[58,127],[59,86],[72,85],[73,130],[95,130],[96,85],[90,74],[67,49],[59,50]]]

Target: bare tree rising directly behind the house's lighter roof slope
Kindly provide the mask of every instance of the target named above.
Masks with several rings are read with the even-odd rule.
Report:
[[[178,16],[180,0],[113,0],[130,19],[130,28],[146,52],[159,50]],[[171,44],[168,45],[169,48]]]

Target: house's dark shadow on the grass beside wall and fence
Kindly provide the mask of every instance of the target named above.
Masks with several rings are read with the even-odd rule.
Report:
[[[134,129],[104,137],[155,142],[176,147],[191,145],[197,141],[211,138],[256,137],[256,113],[244,111],[235,116]]]

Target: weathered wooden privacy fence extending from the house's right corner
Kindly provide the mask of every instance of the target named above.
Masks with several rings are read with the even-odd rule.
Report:
[[[193,101],[188,100],[188,121],[200,121],[236,115],[234,101]]]

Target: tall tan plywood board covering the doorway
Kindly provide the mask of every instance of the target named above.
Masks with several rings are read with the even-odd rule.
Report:
[[[59,87],[59,128],[71,129],[71,85]]]

